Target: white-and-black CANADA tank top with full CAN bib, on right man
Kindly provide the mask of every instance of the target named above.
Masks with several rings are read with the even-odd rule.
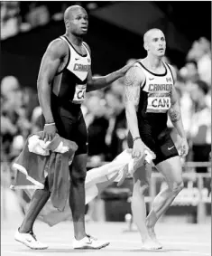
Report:
[[[135,63],[145,75],[137,110],[139,130],[143,135],[157,136],[167,128],[167,112],[171,108],[171,90],[174,81],[170,66],[162,63],[165,68],[163,74],[147,70],[142,61]]]

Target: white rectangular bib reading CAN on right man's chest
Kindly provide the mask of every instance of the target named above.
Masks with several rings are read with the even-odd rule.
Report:
[[[170,97],[149,97],[146,112],[165,113],[171,108]]]

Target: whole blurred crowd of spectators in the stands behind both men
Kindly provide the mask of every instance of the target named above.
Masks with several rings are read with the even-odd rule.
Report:
[[[80,3],[80,2],[78,2]],[[85,3],[85,4],[84,4]],[[105,4],[104,4],[105,3]],[[63,19],[70,2],[1,2],[1,40]],[[87,10],[106,2],[81,2]],[[95,51],[95,50],[94,50]],[[140,57],[140,56],[138,56]],[[134,59],[126,63],[134,62]],[[211,154],[211,45],[204,37],[195,41],[183,67],[164,57],[177,72],[178,92],[183,125],[189,142],[189,155],[184,161],[208,162]],[[23,87],[18,77],[6,76],[1,84],[1,185],[9,187],[14,177],[11,165],[23,148],[26,138],[42,129],[41,107],[37,90]],[[124,79],[105,90],[87,93],[82,111],[88,127],[88,168],[112,161],[127,148],[128,133],[124,111]],[[176,147],[180,137],[168,119],[168,127]],[[184,169],[189,171],[189,169]],[[211,169],[199,166],[194,172]],[[23,194],[24,195],[24,194]],[[19,196],[19,199],[24,197]],[[2,207],[1,207],[2,208]],[[92,207],[90,207],[92,212]]]

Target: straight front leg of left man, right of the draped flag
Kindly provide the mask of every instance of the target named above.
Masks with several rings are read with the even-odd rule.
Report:
[[[85,180],[87,154],[74,157],[70,169],[69,205],[72,212],[74,233],[77,240],[86,236],[85,231]]]

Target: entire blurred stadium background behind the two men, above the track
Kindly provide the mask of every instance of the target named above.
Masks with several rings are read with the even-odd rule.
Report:
[[[178,74],[175,86],[189,155],[182,159],[185,188],[161,221],[177,216],[189,223],[206,222],[211,213],[211,2],[207,1],[1,2],[2,218],[9,218],[13,211],[23,214],[28,203],[24,192],[8,189],[15,175],[11,165],[25,139],[41,130],[38,71],[47,45],[65,33],[63,13],[69,5],[82,5],[88,11],[85,41],[91,48],[94,75],[106,75],[144,58],[143,33],[148,29],[159,28],[165,34],[164,61]],[[82,109],[89,132],[89,170],[112,161],[127,147],[123,79],[106,90],[88,93]],[[179,137],[170,120],[168,126],[179,148]],[[163,185],[161,175],[153,170],[149,206]],[[126,214],[131,214],[131,194],[132,179],[120,188],[111,185],[89,205],[88,220],[126,220],[130,216]]]

